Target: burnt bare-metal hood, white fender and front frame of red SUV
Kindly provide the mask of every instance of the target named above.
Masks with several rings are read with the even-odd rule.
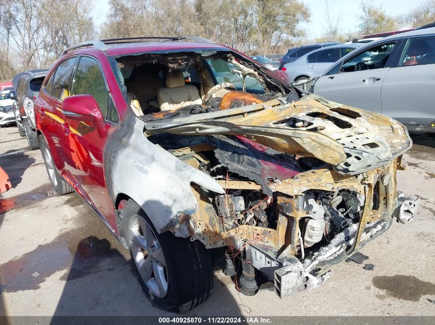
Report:
[[[302,123],[294,126],[288,122],[291,118]],[[115,208],[119,198],[131,198],[159,234],[170,231],[207,248],[233,247],[275,282],[280,296],[322,283],[329,273],[315,276],[316,266],[351,254],[364,240],[391,226],[396,170],[402,168],[403,152],[412,145],[402,124],[313,94],[295,102],[278,98],[173,119],[149,121],[129,114],[123,123],[109,136],[104,159]],[[152,140],[161,134],[242,136],[277,152],[311,157],[323,164],[293,178],[262,184],[252,179],[214,179],[200,169],[207,160],[202,154],[215,150],[213,143],[165,150]],[[225,202],[231,189],[273,195],[276,226],[227,227],[214,200],[223,196]],[[310,190],[349,190],[363,196],[364,202],[358,224],[345,228],[327,247],[304,259],[298,248],[302,246],[299,221],[307,217],[304,195]]]

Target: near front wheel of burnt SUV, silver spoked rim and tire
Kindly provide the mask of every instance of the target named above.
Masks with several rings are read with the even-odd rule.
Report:
[[[183,313],[205,301],[213,288],[211,252],[199,241],[158,234],[133,200],[124,210],[124,229],[145,293],[163,309]]]

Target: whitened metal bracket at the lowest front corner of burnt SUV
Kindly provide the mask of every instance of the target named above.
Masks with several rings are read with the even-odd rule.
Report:
[[[316,277],[309,272],[300,270],[300,267],[301,265],[286,265],[275,271],[275,292],[280,298],[316,288],[330,277],[330,270]]]

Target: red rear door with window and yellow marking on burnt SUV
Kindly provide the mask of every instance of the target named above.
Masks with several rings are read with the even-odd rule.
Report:
[[[61,107],[62,100],[71,92],[71,78],[76,61],[76,56],[62,61],[45,82],[42,95],[34,102],[35,110],[39,111],[36,114],[38,117],[36,123],[45,136],[56,168],[61,174],[64,172],[66,161],[62,146],[61,127],[64,123],[64,116]]]

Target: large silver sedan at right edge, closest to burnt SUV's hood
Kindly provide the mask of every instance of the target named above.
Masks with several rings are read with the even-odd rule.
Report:
[[[329,68],[312,89],[328,100],[392,117],[409,130],[430,132],[434,90],[435,28],[368,43]]]

